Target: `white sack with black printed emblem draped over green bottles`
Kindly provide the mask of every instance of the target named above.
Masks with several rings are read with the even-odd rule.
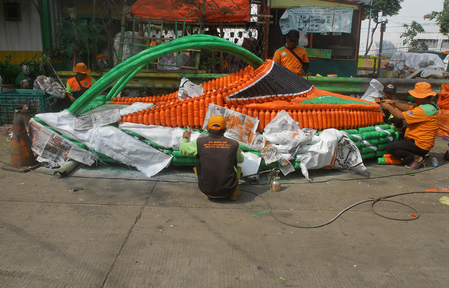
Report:
[[[344,133],[326,129],[319,136],[321,141],[307,145],[295,156],[296,161],[300,161],[301,172],[307,180],[312,181],[308,176],[308,169],[366,170],[359,149]]]

